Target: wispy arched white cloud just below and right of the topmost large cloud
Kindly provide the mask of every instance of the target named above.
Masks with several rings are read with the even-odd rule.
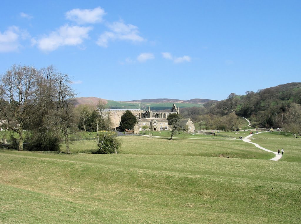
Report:
[[[138,27],[132,24],[124,24],[123,21],[108,23],[107,27],[111,30],[102,33],[97,44],[102,47],[107,47],[109,40],[130,40],[132,42],[142,42],[145,39],[139,36]]]

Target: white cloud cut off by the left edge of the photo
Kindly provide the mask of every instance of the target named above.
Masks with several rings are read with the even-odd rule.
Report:
[[[0,31],[0,52],[18,51],[21,47],[20,39],[27,39],[30,35],[19,27],[8,27],[3,33]]]

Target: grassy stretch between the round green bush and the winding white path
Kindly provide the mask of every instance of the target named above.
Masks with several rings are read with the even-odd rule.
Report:
[[[120,153],[169,156],[225,156],[229,158],[271,159],[273,153],[258,150],[241,140],[174,139],[123,136]]]

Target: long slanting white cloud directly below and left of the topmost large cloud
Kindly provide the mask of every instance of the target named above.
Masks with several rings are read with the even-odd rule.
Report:
[[[54,51],[60,46],[76,46],[88,38],[88,32],[92,27],[79,27],[64,25],[41,39],[32,39],[32,43],[38,45],[43,51]]]

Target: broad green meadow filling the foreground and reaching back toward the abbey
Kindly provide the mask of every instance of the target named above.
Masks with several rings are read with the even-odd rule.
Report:
[[[119,154],[0,149],[0,223],[299,223],[297,147],[269,161],[240,140],[120,139]]]

